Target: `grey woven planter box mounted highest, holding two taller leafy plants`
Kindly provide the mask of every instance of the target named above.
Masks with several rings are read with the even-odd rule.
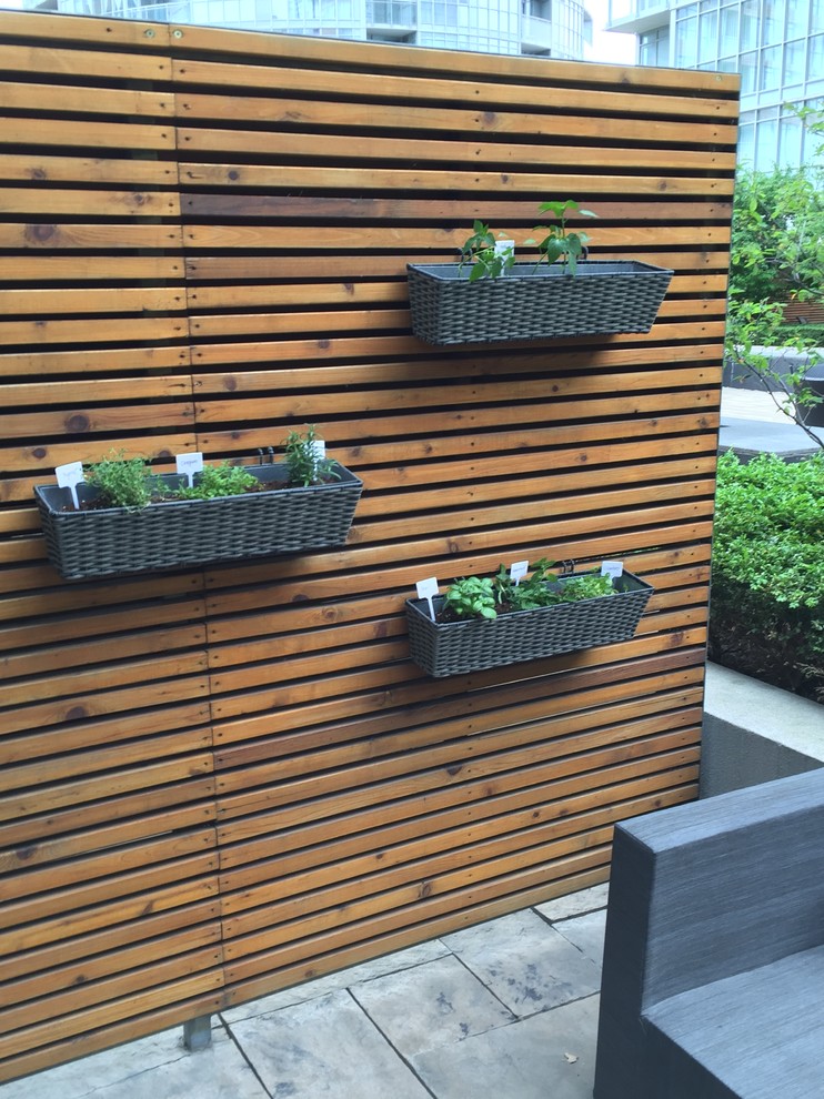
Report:
[[[649,332],[672,271],[632,260],[516,263],[469,281],[458,263],[408,264],[412,331],[434,344]]]

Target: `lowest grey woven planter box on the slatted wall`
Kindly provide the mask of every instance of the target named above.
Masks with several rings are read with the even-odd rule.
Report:
[[[554,583],[563,585],[569,578]],[[429,675],[442,678],[629,641],[653,589],[627,572],[613,579],[612,585],[614,595],[465,622],[432,622],[425,599],[408,599],[412,659]],[[443,596],[436,596],[433,603],[439,612]]]

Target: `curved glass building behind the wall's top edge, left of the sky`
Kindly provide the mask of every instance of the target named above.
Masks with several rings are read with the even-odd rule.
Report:
[[[583,57],[580,0],[24,0],[24,7],[489,53]]]

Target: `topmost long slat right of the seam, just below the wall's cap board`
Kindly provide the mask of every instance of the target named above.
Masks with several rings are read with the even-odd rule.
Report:
[[[552,80],[552,73],[544,69],[543,80],[531,80],[527,84],[495,81],[483,83],[475,80],[436,79],[428,75],[390,75],[385,72],[335,72],[333,69],[304,70],[301,73],[303,93],[328,94],[345,100],[400,99],[426,103],[482,103],[484,110],[492,107],[500,110],[508,104],[531,103],[535,110],[557,111],[572,108],[589,114],[644,114],[655,118],[669,114],[694,117],[702,120],[719,119],[728,121],[737,117],[734,99],[671,97],[664,94],[641,97],[637,92],[619,92],[614,88],[606,91],[590,91],[584,88],[565,89]],[[210,89],[232,89],[232,98],[238,90],[291,90],[294,72],[277,64],[241,65],[219,61],[175,61],[173,67],[175,83]],[[619,124],[620,125],[620,124]]]

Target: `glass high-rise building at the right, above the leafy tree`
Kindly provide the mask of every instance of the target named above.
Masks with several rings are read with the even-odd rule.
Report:
[[[637,36],[640,64],[740,72],[742,160],[812,160],[821,139],[787,104],[824,110],[824,0],[610,0],[609,27]]]

